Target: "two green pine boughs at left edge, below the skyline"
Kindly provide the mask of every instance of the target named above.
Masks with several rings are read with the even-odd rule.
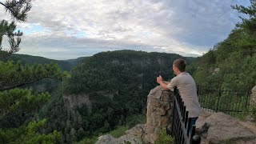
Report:
[[[30,90],[13,89],[42,78],[62,78],[62,72],[56,64],[44,66],[22,66],[21,62],[0,61],[0,120],[16,114],[25,114],[31,110],[38,110],[50,98],[50,94],[31,94]],[[11,90],[13,89],[13,90]]]

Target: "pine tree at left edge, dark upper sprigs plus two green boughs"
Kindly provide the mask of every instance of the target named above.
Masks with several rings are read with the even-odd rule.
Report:
[[[31,0],[6,0],[0,2],[13,19],[12,22],[0,22],[0,58],[20,50],[21,31],[16,31],[15,21],[25,22],[31,9]],[[10,48],[2,48],[2,38],[9,38]],[[17,37],[16,39],[14,39]],[[22,62],[2,62],[0,59],[0,122],[17,115],[38,110],[50,100],[50,94],[32,94],[31,90],[14,89],[18,86],[34,83],[42,78],[62,78],[62,72],[56,64],[44,66],[34,64],[22,66]],[[8,119],[7,119],[8,120]]]

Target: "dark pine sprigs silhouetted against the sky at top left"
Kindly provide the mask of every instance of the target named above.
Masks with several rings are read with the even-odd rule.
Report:
[[[27,18],[27,13],[30,11],[32,5],[31,0],[7,0],[5,3],[0,2],[2,6],[5,7],[6,12],[8,12],[13,19],[13,22],[7,22],[6,20],[2,20],[0,22],[0,58],[6,54],[13,54],[15,52],[18,52],[19,50],[19,44],[22,42],[22,39],[20,38],[22,36],[22,32],[16,30],[15,20],[18,22],[25,22]],[[3,36],[7,36],[9,38],[10,48],[9,49],[3,49],[2,48],[2,40]],[[15,37],[16,40],[14,39]],[[7,51],[5,53],[4,51]]]

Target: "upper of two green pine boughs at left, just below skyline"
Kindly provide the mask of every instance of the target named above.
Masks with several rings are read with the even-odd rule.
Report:
[[[10,90],[16,86],[23,86],[37,82],[42,78],[61,79],[62,72],[57,64],[45,64],[44,66],[34,64],[33,66],[22,66],[21,62],[0,61],[0,90]]]

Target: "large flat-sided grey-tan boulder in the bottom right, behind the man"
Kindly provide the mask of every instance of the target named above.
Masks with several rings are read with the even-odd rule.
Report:
[[[238,119],[223,113],[203,111],[198,121],[197,132],[203,138],[202,143],[240,143],[254,140],[255,135]]]

